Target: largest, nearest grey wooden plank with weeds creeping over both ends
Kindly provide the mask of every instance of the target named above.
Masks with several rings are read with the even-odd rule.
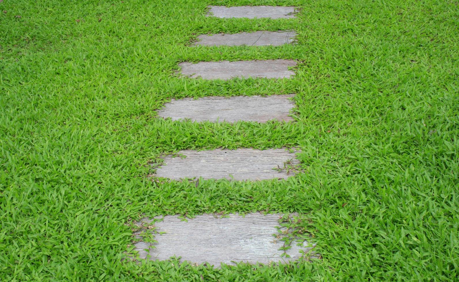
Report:
[[[182,216],[180,214],[175,214],[175,215],[164,215],[164,216],[155,216],[155,217],[147,217],[146,214],[143,214],[143,218],[140,219],[140,221],[137,221],[137,222],[134,222],[134,224],[138,227],[137,229],[134,229],[133,230],[133,235],[135,237],[135,240],[133,242],[134,244],[134,252],[126,252],[126,255],[127,255],[127,259],[130,259],[130,260],[133,260],[136,257],[136,252],[138,252],[138,258],[140,260],[137,260],[138,263],[141,263],[141,260],[144,260],[144,259],[147,259],[147,260],[169,260],[170,257],[173,256],[173,252],[171,252],[171,249],[172,250],[177,250],[179,248],[177,248],[177,246],[174,246],[174,245],[168,245],[168,244],[171,244],[171,239],[167,239],[166,237],[162,237],[161,238],[161,234],[160,233],[156,233],[156,232],[166,232],[164,235],[168,235],[168,230],[169,228],[167,228],[168,224],[169,224],[169,227],[170,227],[170,224],[181,224],[181,225],[188,225],[189,223],[189,226],[192,227],[193,226],[193,220],[196,219],[196,222],[199,221],[199,217],[207,217],[207,219],[211,219],[212,224],[218,224],[218,225],[221,225],[221,224],[224,224],[224,221],[232,221],[231,218],[236,218],[237,221],[239,221],[241,224],[241,221],[243,221],[242,224],[250,224],[251,221],[253,220],[257,220],[257,219],[262,219],[262,222],[266,222],[266,220],[268,221],[268,223],[270,225],[264,225],[262,224],[263,226],[265,226],[266,228],[272,228],[272,229],[269,229],[271,231],[267,231],[267,230],[260,230],[258,228],[255,228],[254,230],[252,230],[252,232],[246,232],[245,228],[243,228],[244,230],[242,231],[241,228],[236,228],[235,230],[241,230],[241,234],[239,235],[243,235],[243,236],[248,236],[246,239],[242,239],[239,244],[244,244],[244,246],[246,246],[246,244],[253,244],[255,242],[249,242],[247,241],[247,239],[252,239],[252,236],[255,238],[257,236],[259,236],[258,234],[263,234],[263,236],[265,236],[264,240],[266,241],[266,233],[270,233],[270,234],[273,234],[273,235],[269,235],[269,237],[271,239],[268,239],[268,241],[270,241],[269,243],[274,243],[274,241],[276,241],[276,238],[279,239],[280,237],[277,236],[275,237],[274,235],[275,234],[281,234],[279,233],[278,229],[276,227],[279,227],[281,230],[283,230],[285,227],[282,227],[280,222],[279,222],[279,219],[281,217],[284,217],[286,214],[288,214],[288,217],[291,218],[291,217],[294,217],[294,216],[298,216],[299,214],[297,212],[291,212],[291,213],[284,213],[284,212],[281,212],[281,213],[278,213],[278,212],[275,212],[275,211],[270,211],[269,213],[265,213],[263,211],[256,211],[256,212],[247,212],[247,213],[227,213],[227,214],[220,214],[220,213],[213,213],[213,214],[209,214],[209,213],[204,213],[204,214],[197,214],[196,216],[192,217],[192,218],[189,218],[187,219],[186,221],[183,221],[180,220],[180,218],[182,218]],[[173,219],[174,222],[170,222],[170,219]],[[215,221],[213,221],[215,219]],[[247,221],[246,221],[247,219]],[[169,220],[169,223],[167,222]],[[201,219],[202,220],[202,219]],[[221,222],[218,222],[222,220]],[[166,221],[166,222],[164,222]],[[180,222],[178,222],[180,221]],[[164,226],[162,226],[163,223],[166,223],[166,229],[164,230]],[[218,222],[218,223],[217,223]],[[247,222],[247,223],[244,223],[244,222]],[[260,222],[260,223],[262,223]],[[221,224],[220,224],[221,223]],[[253,222],[255,223],[255,222]],[[237,222],[236,222],[237,224]],[[252,225],[252,224],[250,224]],[[201,228],[201,225],[199,225],[200,229],[206,229],[206,227],[202,227]],[[151,230],[151,227],[153,227]],[[196,226],[195,226],[196,227]],[[248,226],[247,226],[248,227]],[[264,229],[266,229],[264,228]],[[155,230],[156,229],[156,230]],[[186,229],[189,229],[189,228],[182,228],[183,230],[186,230]],[[172,230],[170,231],[169,230],[169,236],[172,236],[174,238],[174,236],[179,236],[180,237],[180,234],[182,233],[182,229],[179,229],[179,230]],[[154,236],[154,239],[153,241],[151,242],[148,237],[147,239],[144,241],[144,238],[141,237],[141,234],[143,232],[149,232],[153,234]],[[234,234],[229,232],[228,231],[223,231],[220,229],[220,231],[218,231],[218,229],[214,229],[212,228],[212,230],[215,230],[216,233],[222,233],[222,234],[227,234],[227,235],[224,235],[224,237],[228,237],[231,238],[231,236]],[[226,229],[224,229],[226,230]],[[230,230],[230,229],[229,229]],[[235,231],[233,230],[233,231]],[[250,231],[250,230],[249,230]],[[172,233],[171,233],[172,232]],[[183,233],[184,234],[193,234],[193,233],[196,233],[199,231],[195,231],[195,232],[187,232],[187,231],[184,231]],[[236,232],[239,232],[239,231],[236,231]],[[255,233],[253,233],[255,232]],[[213,233],[213,232],[211,232]],[[247,235],[246,235],[247,233]],[[209,237],[209,239],[212,241],[214,239],[211,239],[212,237],[215,237],[214,234],[211,234],[210,233],[203,233],[204,237],[207,237],[207,236],[211,236]],[[218,235],[218,234],[217,234]],[[186,236],[182,236],[183,238],[187,238]],[[201,236],[200,236],[201,237]],[[237,236],[238,237],[238,236]],[[250,237],[250,238],[249,238]],[[179,241],[175,241],[173,240],[172,242],[174,242],[174,244],[183,244],[183,240],[184,239],[180,239]],[[218,238],[221,238],[218,236]],[[166,239],[166,242],[164,242],[163,240],[161,239]],[[185,239],[185,242],[189,240],[189,239]],[[202,238],[201,240],[203,240],[203,242],[207,242],[207,239],[206,238]],[[229,242],[233,242],[233,240],[230,240],[229,242],[226,242],[225,240],[228,240],[228,238],[224,238],[224,243],[223,245],[227,246],[227,244],[229,244]],[[303,241],[304,240],[304,241]],[[194,241],[194,240],[192,240]],[[220,239],[218,239],[218,241],[220,241]],[[226,242],[226,243],[225,243]],[[298,243],[302,243],[302,246],[298,246]],[[237,243],[237,242],[236,242]],[[267,242],[265,242],[266,244]],[[164,245],[165,244],[165,245]],[[218,244],[221,244],[221,243],[218,243]],[[258,244],[258,243],[255,243],[255,244]],[[152,246],[155,246],[153,249],[151,248]],[[229,245],[228,245],[229,246]],[[260,246],[260,245],[258,245]],[[263,246],[263,245],[262,245]],[[246,253],[246,250],[244,249],[241,249],[241,251],[237,251],[236,255],[238,256],[238,259],[235,259],[235,260],[227,260],[224,261],[224,255],[222,256],[221,255],[221,248],[222,246],[213,246],[212,244],[212,252],[213,252],[213,255],[210,254],[210,257],[209,257],[209,253],[206,253],[204,252],[204,259],[202,259],[201,261],[191,261],[187,258],[190,258],[190,256],[195,256],[196,258],[196,255],[197,254],[194,254],[191,250],[188,250],[188,248],[182,248],[182,249],[179,249],[179,251],[177,253],[175,253],[174,255],[176,255],[177,257],[178,256],[182,256],[182,259],[180,260],[181,262],[183,261],[188,261],[190,263],[193,263],[194,265],[199,265],[199,264],[202,264],[204,262],[208,262],[210,263],[212,266],[216,267],[216,268],[219,268],[220,267],[220,263],[223,263],[223,264],[226,264],[226,265],[229,265],[229,266],[234,266],[236,263],[239,263],[239,262],[242,262],[242,263],[249,263],[249,264],[255,264],[255,263],[261,263],[261,264],[271,264],[271,263],[274,263],[274,264],[277,264],[277,263],[288,263],[288,262],[294,262],[296,260],[299,260],[299,259],[306,259],[308,261],[312,261],[311,259],[320,259],[321,258],[321,255],[317,252],[314,252],[314,248],[316,247],[316,244],[310,242],[308,239],[301,239],[301,238],[296,238],[293,242],[291,242],[290,246],[291,248],[290,249],[287,249],[286,250],[286,253],[288,255],[291,255],[290,258],[288,257],[285,257],[285,256],[280,256],[279,254],[282,253],[283,251],[280,250],[280,248],[282,247],[282,245],[271,245],[272,247],[268,247],[269,249],[276,249],[274,253],[271,253],[272,255],[274,256],[267,256],[265,257],[264,260],[260,261],[260,257],[256,257],[256,256],[253,256],[254,254],[256,255],[258,252],[263,252],[263,250],[256,250],[256,249],[253,249],[253,251],[255,251],[255,253],[251,252],[251,253]],[[194,246],[196,248],[196,246]],[[266,245],[265,245],[266,247]],[[157,249],[158,248],[158,249]],[[166,248],[166,249],[164,249]],[[208,246],[206,246],[206,248],[209,248]],[[214,250],[214,248],[217,250],[217,252]],[[233,249],[233,252],[234,252],[234,246],[231,247]],[[219,250],[220,249],[220,250]],[[226,248],[225,248],[226,249]],[[249,248],[250,249],[250,248]],[[302,255],[301,252],[299,252],[300,250],[304,250],[304,256]],[[203,252],[204,250],[201,249],[201,247],[199,247],[198,249],[195,250],[195,252]],[[247,250],[248,251],[248,250]],[[266,249],[265,249],[266,251]],[[153,253],[151,253],[153,252]],[[215,253],[218,254],[218,258],[217,260],[215,260]],[[231,254],[232,251],[231,249],[229,249],[227,251],[227,253]],[[277,253],[277,254],[276,254]],[[241,254],[246,254],[246,256],[241,256]],[[183,257],[183,255],[185,255],[185,258]],[[233,254],[234,255],[234,254]],[[199,257],[199,255],[197,255]],[[241,256],[241,257],[239,257]],[[243,259],[245,258],[245,259]],[[198,258],[199,260],[199,258]],[[268,260],[268,261],[265,261],[265,260]]]

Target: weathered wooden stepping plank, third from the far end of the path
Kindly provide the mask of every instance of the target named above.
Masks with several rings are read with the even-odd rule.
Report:
[[[295,72],[288,68],[296,66],[295,60],[252,60],[180,63],[182,74],[193,78],[223,79],[234,77],[290,78]]]

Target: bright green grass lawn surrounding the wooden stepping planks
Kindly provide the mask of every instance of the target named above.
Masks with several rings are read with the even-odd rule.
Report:
[[[0,3],[0,280],[448,281],[459,275],[459,2]],[[297,19],[205,17],[298,5]],[[20,17],[17,17],[20,16]],[[78,21],[77,21],[78,20]],[[298,44],[190,48],[295,29]],[[180,61],[295,59],[291,80],[204,81]],[[171,98],[295,93],[296,123],[158,119]],[[182,149],[297,147],[281,181],[162,183]],[[140,215],[300,212],[322,260],[210,269],[123,261]],[[132,247],[130,247],[132,249]]]

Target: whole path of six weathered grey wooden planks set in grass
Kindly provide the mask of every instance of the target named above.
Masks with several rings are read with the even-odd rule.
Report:
[[[209,15],[221,18],[271,18],[289,19],[295,17],[295,7],[281,6],[242,6],[225,7],[209,6]],[[295,32],[267,32],[239,34],[201,35],[196,45],[202,46],[262,46],[292,43]],[[232,78],[291,78],[295,72],[295,60],[251,60],[180,63],[183,76],[203,79]],[[242,93],[241,93],[242,94]],[[272,93],[275,94],[275,93]],[[230,98],[207,97],[172,100],[158,111],[158,115],[172,120],[191,119],[201,121],[257,121],[268,120],[290,121],[288,116],[294,107],[293,95],[272,95],[268,97],[236,96]],[[178,121],[180,122],[180,121]],[[284,148],[254,150],[240,148],[237,150],[216,149],[212,151],[184,150],[178,153],[181,157],[164,157],[160,167],[155,168],[155,177],[171,180],[181,179],[229,179],[230,181],[258,181],[263,179],[285,179],[295,174],[297,165],[295,152]],[[274,168],[274,169],[273,169]],[[204,191],[205,192],[205,191]],[[161,193],[161,190],[158,190]],[[140,258],[151,260],[168,260],[171,256],[181,256],[181,260],[191,263],[207,262],[219,266],[221,262],[269,263],[287,262],[302,256],[300,250],[312,252],[307,242],[298,246],[291,244],[286,251],[287,258],[279,250],[283,243],[279,241],[280,214],[262,215],[247,214],[241,217],[230,214],[218,218],[204,214],[181,221],[177,216],[166,216],[162,222],[155,222],[157,243],[143,241],[136,233],[139,242],[135,249]],[[151,223],[151,220],[143,220]],[[151,229],[149,229],[151,230]],[[153,231],[150,231],[153,232]]]

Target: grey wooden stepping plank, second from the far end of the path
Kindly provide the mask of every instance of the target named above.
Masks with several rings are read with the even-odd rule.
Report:
[[[279,46],[290,44],[294,41],[297,33],[294,31],[257,31],[254,33],[236,33],[236,34],[202,34],[198,36],[195,45],[202,46]]]

